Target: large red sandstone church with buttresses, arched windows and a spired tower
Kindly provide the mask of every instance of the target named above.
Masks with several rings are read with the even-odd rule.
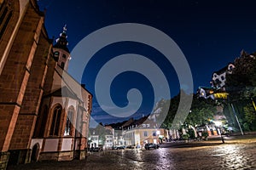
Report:
[[[70,59],[66,26],[54,43],[36,0],[0,0],[0,169],[85,159],[92,95]]]

